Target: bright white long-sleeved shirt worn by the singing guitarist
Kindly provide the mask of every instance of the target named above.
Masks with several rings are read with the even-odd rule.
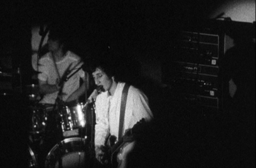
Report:
[[[109,134],[118,138],[121,95],[125,83],[118,83],[113,96],[108,91],[99,94],[95,102],[96,125],[95,146],[104,145]],[[124,132],[142,118],[151,121],[153,114],[148,106],[148,98],[138,88],[129,87],[124,116]],[[124,134],[123,132],[123,134]]]

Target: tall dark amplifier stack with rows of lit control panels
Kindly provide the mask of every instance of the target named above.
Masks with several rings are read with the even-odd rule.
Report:
[[[173,44],[171,56],[162,66],[162,82],[192,104],[220,110],[220,64],[225,53],[225,35],[203,28],[187,29],[179,31]]]

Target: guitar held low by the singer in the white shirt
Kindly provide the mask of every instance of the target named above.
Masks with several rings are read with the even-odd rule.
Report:
[[[138,134],[143,130],[144,123],[146,123],[146,121],[143,118],[138,121],[132,129],[128,129],[124,136],[117,142],[115,136],[108,137],[108,141],[105,144],[105,146],[108,147],[105,158],[108,160],[108,164],[110,164],[109,167],[125,167],[127,164],[127,155],[135,148],[135,141],[132,139],[135,134]]]

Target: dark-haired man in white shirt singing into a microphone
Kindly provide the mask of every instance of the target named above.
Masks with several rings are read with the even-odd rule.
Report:
[[[109,54],[109,53],[108,53]],[[95,125],[95,153],[96,159],[101,164],[106,164],[103,146],[109,135],[118,140],[118,129],[121,109],[122,91],[126,83],[116,79],[116,65],[113,58],[108,54],[94,64],[92,69],[95,84],[102,86],[103,92],[97,96],[95,102],[96,125]],[[142,118],[151,121],[153,114],[148,105],[147,96],[138,88],[129,86],[127,92],[127,104],[124,112],[123,132],[132,129]],[[126,166],[124,166],[126,167]]]

